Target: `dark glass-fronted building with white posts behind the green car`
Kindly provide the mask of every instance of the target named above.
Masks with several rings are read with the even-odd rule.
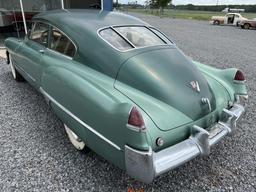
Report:
[[[99,9],[112,11],[112,0],[0,0],[0,27],[13,26],[15,31],[29,28],[32,17],[54,9]],[[24,19],[23,19],[24,14]],[[27,25],[27,26],[26,26]],[[3,31],[3,30],[2,30]]]

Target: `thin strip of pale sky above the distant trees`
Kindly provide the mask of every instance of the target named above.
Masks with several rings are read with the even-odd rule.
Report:
[[[115,1],[115,0],[114,0]],[[118,0],[120,3],[134,2],[136,0]],[[218,0],[219,4],[256,4],[256,0]],[[138,3],[144,4],[145,0],[137,0]],[[217,0],[173,0],[174,5],[194,4],[194,5],[216,5]]]

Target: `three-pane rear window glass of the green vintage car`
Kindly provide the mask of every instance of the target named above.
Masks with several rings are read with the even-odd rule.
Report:
[[[157,33],[154,29],[143,26],[106,28],[100,31],[100,35],[120,51],[170,43],[167,38],[162,38],[163,35],[159,36],[159,32]]]

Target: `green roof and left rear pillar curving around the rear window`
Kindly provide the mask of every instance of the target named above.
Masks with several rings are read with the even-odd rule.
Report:
[[[75,61],[85,63],[106,75],[115,77],[120,66],[128,58],[145,49],[134,49],[121,53],[112,48],[98,34],[99,29],[109,26],[149,24],[133,16],[120,12],[101,10],[55,10],[34,16],[33,21],[45,21],[64,32],[75,44],[77,49]]]

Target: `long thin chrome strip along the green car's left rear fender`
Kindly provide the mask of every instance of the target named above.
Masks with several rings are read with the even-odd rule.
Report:
[[[99,132],[97,132],[95,129],[93,129],[90,125],[86,124],[85,122],[83,122],[81,119],[79,119],[77,116],[75,116],[71,111],[69,111],[68,109],[66,109],[63,105],[61,105],[58,101],[56,101],[53,97],[51,97],[47,92],[44,91],[44,89],[42,87],[40,87],[40,92],[47,97],[51,102],[53,102],[54,104],[56,104],[59,108],[61,108],[65,113],[67,113],[70,117],[72,117],[73,119],[75,119],[78,123],[80,123],[81,125],[83,125],[85,128],[87,128],[89,131],[91,131],[92,133],[94,133],[95,135],[97,135],[98,137],[100,137],[102,140],[104,140],[105,142],[107,142],[108,144],[110,144],[112,147],[116,148],[117,150],[121,151],[121,148],[116,145],[115,143],[113,143],[112,141],[110,141],[109,139],[107,139],[106,137],[104,137],[102,134],[100,134]]]

